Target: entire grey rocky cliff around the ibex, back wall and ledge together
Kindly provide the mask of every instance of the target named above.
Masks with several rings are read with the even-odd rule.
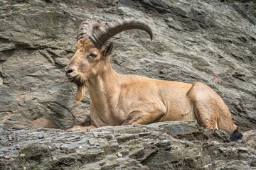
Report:
[[[0,169],[255,168],[256,20],[255,2],[246,3],[253,6],[217,0],[0,1]],[[244,142],[227,142],[225,132],[193,122],[92,132],[43,129],[90,124],[90,96],[75,103],[76,87],[64,72],[78,26],[88,16],[102,23],[121,17],[149,23],[153,41],[139,30],[112,38],[112,67],[208,84],[240,129],[252,130],[244,132]]]

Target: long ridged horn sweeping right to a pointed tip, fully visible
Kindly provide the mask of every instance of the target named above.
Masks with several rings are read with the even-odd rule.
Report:
[[[144,21],[139,21],[134,18],[122,18],[106,23],[105,26],[100,26],[94,35],[90,37],[96,47],[102,47],[110,38],[124,30],[139,29],[144,30],[149,34],[151,40],[153,33],[151,28]]]

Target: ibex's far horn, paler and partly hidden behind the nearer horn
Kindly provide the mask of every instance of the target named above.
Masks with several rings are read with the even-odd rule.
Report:
[[[90,37],[92,30],[101,26],[100,21],[95,18],[86,18],[79,26],[77,41],[81,38]]]

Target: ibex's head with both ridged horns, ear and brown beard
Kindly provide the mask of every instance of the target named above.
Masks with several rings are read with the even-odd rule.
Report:
[[[92,30],[97,29],[94,34]],[[78,85],[76,101],[82,101],[85,96],[87,81],[105,72],[110,67],[108,55],[112,52],[113,43],[103,47],[107,40],[124,30],[140,29],[149,33],[152,40],[152,31],[143,21],[133,18],[122,18],[101,26],[95,18],[82,21],[78,30],[76,52],[65,67],[68,80]]]

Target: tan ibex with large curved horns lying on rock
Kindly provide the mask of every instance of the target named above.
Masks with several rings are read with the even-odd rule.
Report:
[[[242,139],[228,107],[206,84],[115,72],[109,61],[113,43],[104,45],[114,35],[131,29],[144,30],[153,38],[151,28],[134,18],[117,19],[105,26],[95,18],[87,18],[80,24],[75,55],[65,72],[68,80],[78,86],[76,101],[82,101],[85,88],[89,89],[91,127],[197,120],[204,128],[225,130],[230,140]]]

